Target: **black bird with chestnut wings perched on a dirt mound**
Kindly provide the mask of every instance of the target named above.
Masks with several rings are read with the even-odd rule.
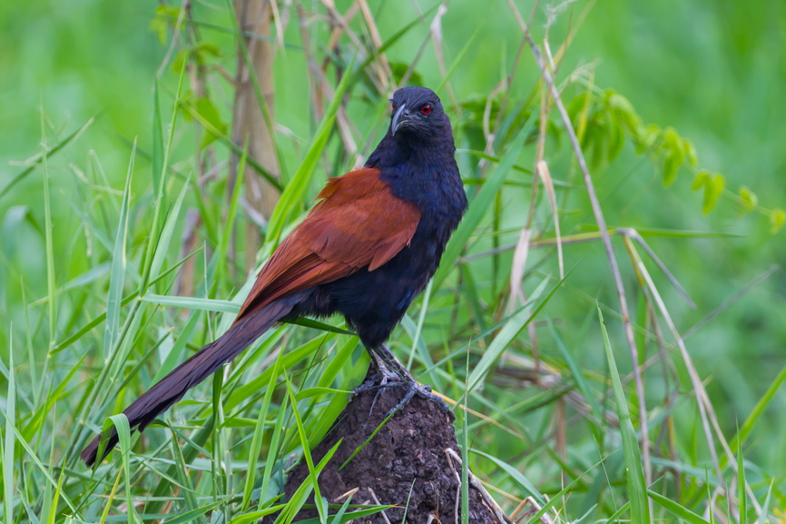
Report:
[[[388,131],[363,167],[329,179],[261,268],[229,330],[123,410],[132,430],[144,430],[274,323],[302,316],[342,314],[376,362],[380,387],[390,378],[407,387],[405,400],[430,393],[385,342],[437,271],[467,194],[437,94],[407,86],[389,102]],[[82,451],[88,467],[117,445],[116,430],[99,459],[100,441]]]

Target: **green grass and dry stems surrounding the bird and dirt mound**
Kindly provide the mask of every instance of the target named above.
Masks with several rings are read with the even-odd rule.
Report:
[[[248,31],[251,0],[12,4],[3,521],[291,522],[319,493],[309,450],[368,367],[340,318],[270,331],[143,436],[117,413],[228,327],[400,84],[440,94],[471,203],[390,345],[506,514],[784,519],[784,6],[296,0]]]

